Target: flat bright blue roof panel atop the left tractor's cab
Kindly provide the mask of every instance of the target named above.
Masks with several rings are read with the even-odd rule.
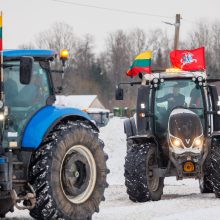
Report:
[[[19,59],[22,56],[32,56],[35,59],[52,60],[57,55],[54,50],[4,50],[4,59]]]

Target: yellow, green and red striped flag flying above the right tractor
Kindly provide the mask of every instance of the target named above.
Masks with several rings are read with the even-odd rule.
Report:
[[[127,76],[137,76],[139,73],[151,73],[151,58],[152,51],[144,51],[135,57],[134,62],[130,66],[130,69],[127,71]]]

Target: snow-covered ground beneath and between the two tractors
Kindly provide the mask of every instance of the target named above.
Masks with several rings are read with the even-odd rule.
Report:
[[[101,129],[105,151],[109,155],[109,188],[106,201],[101,204],[100,213],[93,220],[219,220],[220,199],[214,194],[200,194],[198,181],[176,181],[166,178],[161,201],[133,203],[128,199],[124,187],[123,165],[126,151],[123,134],[123,120],[113,118]],[[7,219],[31,220],[28,212],[15,211]]]

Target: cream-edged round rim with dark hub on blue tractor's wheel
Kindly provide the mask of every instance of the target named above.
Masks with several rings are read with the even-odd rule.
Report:
[[[83,145],[72,146],[65,154],[60,182],[65,197],[81,204],[91,196],[96,183],[96,163],[91,151]]]

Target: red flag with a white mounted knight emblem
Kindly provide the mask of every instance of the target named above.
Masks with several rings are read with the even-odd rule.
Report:
[[[205,70],[205,48],[173,50],[170,52],[170,61],[173,67],[182,70]]]

